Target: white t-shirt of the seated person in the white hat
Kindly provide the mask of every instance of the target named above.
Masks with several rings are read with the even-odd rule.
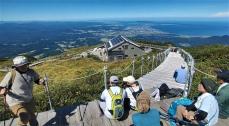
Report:
[[[140,87],[136,86],[136,87],[132,87],[132,89],[134,90],[134,92],[137,92],[140,90]],[[130,99],[130,106],[136,107],[136,99],[134,98],[134,96],[130,90],[130,87],[126,88],[125,90],[126,90],[127,97]]]

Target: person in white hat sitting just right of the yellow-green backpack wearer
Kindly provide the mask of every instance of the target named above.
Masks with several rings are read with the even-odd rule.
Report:
[[[123,82],[127,83],[125,90],[127,97],[130,99],[130,108],[136,110],[136,99],[137,96],[143,91],[143,88],[133,76],[124,77]]]

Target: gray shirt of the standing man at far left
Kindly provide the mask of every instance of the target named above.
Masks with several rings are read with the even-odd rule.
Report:
[[[1,87],[7,87],[10,84],[12,73],[8,72],[0,83]],[[6,102],[11,107],[19,103],[27,103],[32,100],[33,82],[39,79],[39,75],[32,69],[26,73],[16,71],[16,76],[12,87],[6,95]]]

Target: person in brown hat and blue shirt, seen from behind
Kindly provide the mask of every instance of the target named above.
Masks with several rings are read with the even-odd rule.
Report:
[[[159,111],[150,108],[150,95],[146,91],[137,97],[137,109],[139,113],[132,115],[134,126],[160,126]]]

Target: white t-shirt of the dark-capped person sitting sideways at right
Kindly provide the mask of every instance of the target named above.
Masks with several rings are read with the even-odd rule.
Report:
[[[208,126],[214,126],[218,122],[219,106],[212,94],[204,93],[199,96],[195,106],[197,109],[208,113],[206,117]]]

